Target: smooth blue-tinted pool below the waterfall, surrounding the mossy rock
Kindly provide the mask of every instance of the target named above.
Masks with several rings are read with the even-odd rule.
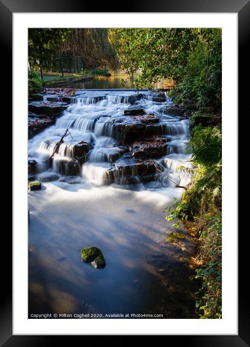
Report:
[[[42,198],[37,202],[40,208],[30,208],[30,314],[119,312],[196,317],[192,293],[197,288],[189,280],[194,274],[189,259],[195,245],[186,238],[182,251],[168,243],[166,232],[172,227],[168,222],[162,226],[164,213],[155,208],[156,218],[150,221],[148,208],[154,209],[153,205],[141,204],[137,192],[122,192],[121,197],[121,192],[99,191],[94,199],[84,199],[81,193],[68,211],[62,203],[43,204]],[[129,203],[126,195],[131,198]],[[125,204],[117,205],[117,196],[126,197]],[[95,199],[99,211],[93,210]],[[184,229],[181,232],[187,236]],[[92,245],[102,250],[106,268],[96,270],[81,262],[80,249]]]

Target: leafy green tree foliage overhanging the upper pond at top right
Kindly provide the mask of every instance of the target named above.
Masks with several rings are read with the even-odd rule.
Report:
[[[221,29],[117,29],[119,54],[137,89],[172,78],[177,101],[193,99],[198,106],[221,107]]]

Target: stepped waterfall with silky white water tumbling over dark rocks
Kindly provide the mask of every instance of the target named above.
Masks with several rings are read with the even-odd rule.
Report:
[[[144,155],[143,149],[139,148],[134,155],[132,147],[129,147],[130,141],[140,142],[143,141],[143,136],[147,138],[157,134],[167,140],[165,157],[162,158],[164,170],[173,176],[177,175],[177,179],[180,175],[185,182],[190,180],[187,174],[174,168],[175,165],[183,165],[178,164],[178,160],[182,162],[185,157],[190,122],[180,116],[161,114],[162,104],[172,103],[168,96],[163,103],[153,102],[152,94],[142,93],[142,96],[135,100],[134,91],[85,91],[84,96],[72,98],[56,123],[29,141],[29,156],[38,162],[36,174],[54,172],[54,178],[55,173],[63,176],[80,174],[83,179],[98,185],[144,184],[154,180],[155,168],[147,164],[152,152],[149,150]],[[143,124],[137,116],[125,116],[124,110],[129,107],[132,99],[135,104],[133,107],[144,109],[145,114],[155,113],[159,118],[158,123]],[[48,166],[45,160],[53,153],[56,143],[67,128],[70,129],[70,134],[63,139]],[[128,144],[122,145],[124,143]],[[163,152],[160,153],[162,155]],[[141,165],[141,158],[146,161],[145,165]],[[62,177],[60,182],[63,181],[66,182]]]

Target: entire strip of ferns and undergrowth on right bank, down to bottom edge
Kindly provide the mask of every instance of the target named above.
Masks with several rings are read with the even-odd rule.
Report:
[[[193,180],[169,208],[166,219],[176,220],[173,226],[190,219],[195,220],[194,229],[200,234],[200,252],[195,278],[202,279],[202,288],[196,294],[200,318],[221,318],[221,131],[219,127],[194,127],[187,143],[192,153],[191,161],[196,166]],[[180,170],[190,173],[183,166]]]

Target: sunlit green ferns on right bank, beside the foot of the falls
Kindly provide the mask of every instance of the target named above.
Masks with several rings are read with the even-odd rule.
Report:
[[[221,208],[221,131],[218,127],[195,126],[188,140],[187,152],[192,153],[191,162],[195,169],[179,167],[181,171],[193,174],[193,180],[183,193],[181,200],[170,208],[168,220],[179,218],[178,225],[184,219],[197,217],[209,210]]]

